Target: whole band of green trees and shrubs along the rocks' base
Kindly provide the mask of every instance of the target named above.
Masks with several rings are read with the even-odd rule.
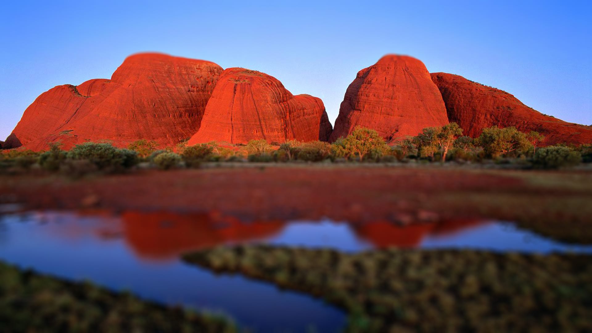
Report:
[[[202,143],[158,149],[156,142],[138,140],[127,149],[110,143],[87,142],[63,151],[53,143],[46,152],[9,150],[0,154],[0,170],[22,171],[40,168],[70,175],[89,172],[123,172],[140,165],[160,169],[198,168],[204,162],[400,162],[519,164],[525,168],[571,167],[592,162],[592,145],[555,145],[539,148],[545,137],[523,133],[515,127],[484,129],[475,139],[462,135],[456,123],[428,127],[415,137],[387,144],[375,130],[358,127],[334,143],[247,144]]]

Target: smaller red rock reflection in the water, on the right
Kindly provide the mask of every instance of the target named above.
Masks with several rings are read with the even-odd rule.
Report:
[[[386,221],[377,221],[356,225],[355,232],[377,248],[413,248],[419,246],[428,235],[450,235],[482,223],[482,220],[459,219],[398,226]]]

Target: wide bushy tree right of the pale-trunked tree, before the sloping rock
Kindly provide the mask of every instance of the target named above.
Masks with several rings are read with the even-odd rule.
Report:
[[[483,129],[477,142],[483,148],[485,155],[493,158],[511,152],[525,152],[532,147],[526,134],[517,130],[516,127],[500,129],[497,126],[492,126]]]

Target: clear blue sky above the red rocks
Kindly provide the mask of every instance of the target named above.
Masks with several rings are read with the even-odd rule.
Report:
[[[356,73],[387,53],[592,124],[592,1],[11,1],[0,8],[0,140],[41,92],[110,78],[156,51],[244,67],[334,120]]]

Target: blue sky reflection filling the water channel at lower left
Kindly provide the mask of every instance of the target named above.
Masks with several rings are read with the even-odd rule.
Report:
[[[336,332],[345,314],[306,294],[279,290],[273,284],[169,261],[141,260],[123,238],[99,238],[97,219],[53,219],[41,223],[34,215],[19,223],[0,217],[0,260],[41,273],[73,280],[88,279],[114,290],[130,290],[144,299],[224,312],[256,331]],[[74,227],[77,225],[76,227]],[[66,236],[58,229],[68,228]],[[73,227],[73,228],[72,228]],[[112,228],[113,226],[109,226]],[[103,226],[104,228],[104,226]]]

